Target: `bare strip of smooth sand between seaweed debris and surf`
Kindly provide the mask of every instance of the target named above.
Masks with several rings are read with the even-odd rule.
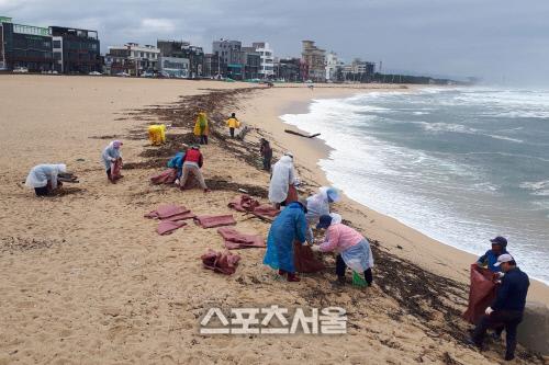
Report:
[[[264,113],[261,119],[258,119],[249,110],[254,110],[251,102],[246,102],[244,105],[245,113],[243,119],[250,123],[251,126],[267,130],[274,137],[277,145],[279,145],[277,152],[280,155],[283,150],[292,150],[296,159],[296,167],[302,167],[299,175],[306,180],[316,181],[320,185],[329,184],[326,172],[318,166],[320,160],[328,159],[330,147],[322,139],[322,136],[313,139],[306,139],[298,136],[292,136],[283,133],[283,129],[292,129],[305,133],[290,124],[282,121],[281,116],[284,114],[305,114],[309,112],[309,106],[315,99],[343,99],[350,98],[356,94],[367,92],[383,92],[383,91],[402,91],[413,92],[414,90],[428,88],[428,87],[412,87],[407,91],[403,89],[361,89],[361,90],[346,90],[346,89],[332,89],[317,90],[313,92],[303,90],[303,95],[292,95],[293,99],[277,95],[271,98],[279,100],[278,104],[269,102],[265,105],[264,101],[260,103],[268,107],[268,112]],[[277,88],[267,91],[274,91]],[[295,98],[296,96],[296,98]],[[261,99],[255,96],[253,100]],[[268,117],[266,118],[266,115]],[[268,121],[268,124],[265,121]],[[305,133],[306,134],[306,133]],[[298,147],[294,147],[298,146]],[[296,152],[298,151],[298,152]],[[273,156],[273,162],[277,161],[277,155]],[[298,170],[300,170],[298,168]],[[470,264],[474,263],[478,255],[458,249],[450,244],[446,244],[435,240],[421,231],[406,226],[396,218],[376,212],[368,206],[360,204],[349,198],[345,192],[341,203],[334,205],[334,209],[345,213],[344,218],[357,224],[358,227],[367,232],[367,235],[376,240],[382,242],[386,249],[392,253],[410,260],[422,267],[432,271],[435,274],[450,277],[463,284],[469,284]],[[361,217],[368,217],[365,219]],[[401,247],[402,249],[400,249]],[[489,239],[486,238],[486,250],[489,249]],[[528,292],[529,301],[539,301],[549,306],[549,286],[544,282],[530,277],[530,289]]]

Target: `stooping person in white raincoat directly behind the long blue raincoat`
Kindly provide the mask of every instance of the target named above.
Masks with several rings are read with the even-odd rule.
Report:
[[[271,181],[269,183],[269,201],[274,207],[298,201],[299,179],[293,170],[293,155],[285,152],[280,160],[272,166]]]

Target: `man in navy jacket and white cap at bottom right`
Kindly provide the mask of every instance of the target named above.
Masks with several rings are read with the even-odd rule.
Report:
[[[505,360],[511,361],[515,357],[517,327],[523,320],[530,282],[528,275],[520,271],[515,259],[508,253],[501,254],[494,266],[501,267],[505,275],[497,288],[494,303],[486,308],[485,315],[479,320],[471,340],[474,345],[482,349],[486,330],[503,323],[506,332]]]

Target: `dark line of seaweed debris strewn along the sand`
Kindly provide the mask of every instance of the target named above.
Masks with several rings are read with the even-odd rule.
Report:
[[[248,166],[260,170],[259,146],[257,144],[229,139],[226,137],[224,119],[226,111],[238,111],[238,103],[243,98],[248,96],[261,88],[234,89],[234,90],[208,90],[206,94],[181,98],[180,101],[168,105],[154,105],[130,113],[128,115],[139,115],[142,119],[157,118],[161,123],[171,124],[173,127],[192,130],[195,114],[200,110],[209,112],[211,123],[211,138],[217,142],[227,153],[233,155]],[[221,130],[221,132],[220,132]],[[261,134],[261,130],[257,130]],[[145,139],[146,135],[135,132],[131,136],[135,139]],[[146,158],[146,162],[134,168],[161,168],[166,163],[166,158],[177,152],[181,144],[193,144],[195,137],[192,133],[168,135],[167,144],[155,149],[147,149],[141,156]],[[127,164],[125,166],[127,168]],[[242,185],[214,176],[208,181],[214,190],[236,191],[245,189],[251,195],[267,197],[267,190],[264,186]],[[315,186],[314,183],[309,186]],[[307,191],[311,194],[312,191]],[[351,223],[350,226],[352,226]],[[355,227],[356,228],[356,227]],[[415,263],[397,258],[383,249],[379,241],[372,242],[372,251],[376,256],[376,282],[384,295],[393,298],[401,307],[400,312],[392,313],[393,319],[401,316],[412,315],[427,328],[427,334],[432,338],[439,338],[448,334],[457,343],[467,345],[469,326],[461,319],[463,307],[467,306],[468,286],[453,280],[426,271]],[[323,278],[328,278],[323,275]],[[310,304],[327,303],[327,293],[316,288],[310,288]],[[359,300],[368,300],[367,294],[359,293]],[[442,316],[444,321],[435,321],[436,317]],[[441,322],[442,324],[438,324]],[[517,351],[517,356],[529,362],[542,362],[542,357],[528,351]],[[441,361],[446,364],[459,364],[445,353]]]

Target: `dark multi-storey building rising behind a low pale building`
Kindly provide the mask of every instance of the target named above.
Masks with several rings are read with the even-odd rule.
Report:
[[[187,78],[195,79],[204,76],[204,50],[202,47],[197,47],[191,45],[186,41],[165,41],[158,39],[156,46],[160,50],[160,56],[165,58],[170,58],[170,62],[173,58],[187,59],[189,69]],[[186,61],[178,61],[178,64],[183,65]]]

